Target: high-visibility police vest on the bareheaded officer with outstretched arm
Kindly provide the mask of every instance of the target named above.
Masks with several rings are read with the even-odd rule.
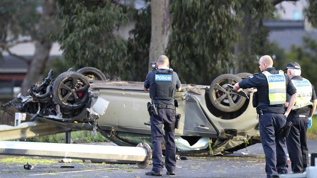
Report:
[[[270,105],[281,105],[286,102],[286,79],[284,72],[279,70],[278,74],[271,74],[268,71],[262,72],[269,84]]]

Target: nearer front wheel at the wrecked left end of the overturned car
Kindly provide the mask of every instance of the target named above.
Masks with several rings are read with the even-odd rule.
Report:
[[[54,81],[53,95],[57,104],[66,109],[83,107],[89,99],[89,82],[76,71],[61,73]]]

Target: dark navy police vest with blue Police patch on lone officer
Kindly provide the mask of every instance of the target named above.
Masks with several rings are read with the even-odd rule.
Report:
[[[175,97],[176,89],[173,86],[173,70],[162,72],[153,70],[154,84],[150,86],[150,97],[156,100],[171,100]]]

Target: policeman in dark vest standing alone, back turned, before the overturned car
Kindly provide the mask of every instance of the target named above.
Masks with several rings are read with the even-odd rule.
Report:
[[[162,163],[162,125],[165,131],[165,167],[167,175],[175,175],[176,146],[174,140],[174,123],[176,108],[174,106],[175,91],[180,91],[181,84],[175,71],[169,68],[167,56],[160,55],[157,69],[149,71],[146,75],[143,90],[150,89],[150,97],[158,108],[158,116],[150,116],[152,138],[153,167],[148,176],[161,176]]]

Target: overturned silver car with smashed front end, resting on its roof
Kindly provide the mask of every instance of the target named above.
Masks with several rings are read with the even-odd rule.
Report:
[[[260,142],[257,113],[250,102],[256,89],[244,90],[247,99],[228,87],[249,75],[223,74],[210,86],[182,85],[175,97],[182,116],[175,129],[179,153],[227,154]],[[2,107],[11,114],[27,113],[28,121],[98,130],[118,145],[135,146],[151,145],[149,101],[142,82],[109,81],[98,69],[86,67],[55,79],[50,71],[43,82],[32,86],[30,95],[19,95]]]

